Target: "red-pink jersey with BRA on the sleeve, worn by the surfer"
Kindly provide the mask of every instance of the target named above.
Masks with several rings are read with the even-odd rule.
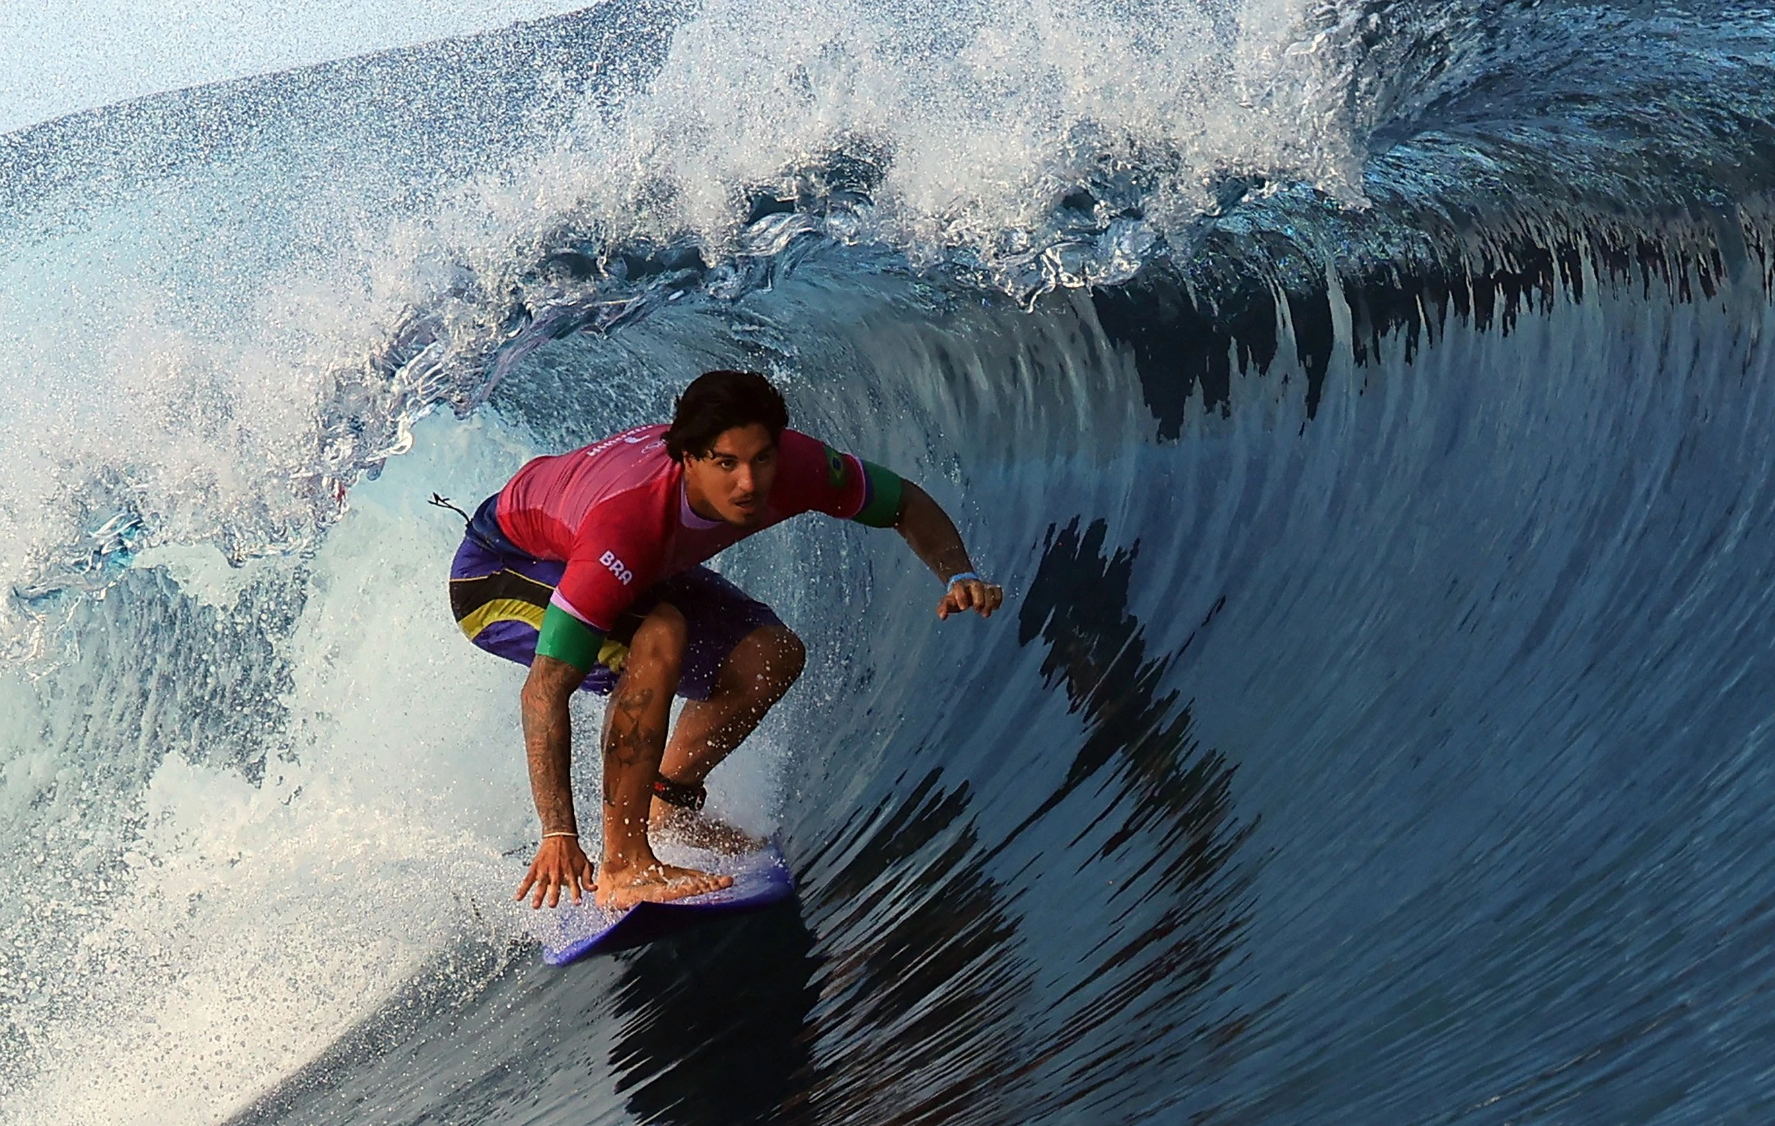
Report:
[[[643,426],[572,454],[536,457],[499,493],[499,527],[536,559],[566,562],[552,605],[595,629],[655,582],[802,512],[848,520],[870,502],[863,461],[797,431],[777,440],[763,520],[747,528],[703,520],[666,452],[664,426]]]

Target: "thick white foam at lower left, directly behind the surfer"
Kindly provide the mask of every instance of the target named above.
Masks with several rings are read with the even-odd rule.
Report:
[[[43,1071],[7,1122],[220,1121],[479,926],[470,901],[509,895],[501,853],[534,819],[522,670],[456,631],[460,523],[424,498],[490,489],[522,450],[483,424],[431,433],[311,564],[263,786],[169,755],[146,793],[106,794],[142,817],[126,872],[69,904],[89,911],[73,965],[25,968],[91,1007],[30,1028]],[[5,786],[57,766],[16,757]]]

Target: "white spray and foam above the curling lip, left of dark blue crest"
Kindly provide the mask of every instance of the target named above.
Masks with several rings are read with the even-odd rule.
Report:
[[[1321,28],[1303,43],[1312,20],[1292,0],[912,14],[850,4],[829,16],[809,23],[783,0],[602,5],[0,138],[0,227],[18,250],[0,266],[30,278],[32,255],[69,239],[114,303],[55,309],[53,282],[23,285],[5,321],[27,364],[66,369],[39,374],[66,385],[75,413],[199,408],[178,418],[193,431],[181,459],[147,449],[151,433],[121,454],[64,443],[69,465],[39,473],[60,481],[43,497],[55,514],[0,512],[46,525],[18,537],[25,560],[5,576],[12,656],[36,651],[69,594],[103,590],[146,546],[201,539],[234,562],[311,550],[350,486],[406,449],[417,417],[485,397],[485,369],[547,332],[552,303],[600,305],[593,319],[607,326],[621,307],[644,312],[648,298],[621,285],[552,293],[557,250],[609,262],[696,243],[731,275],[712,277],[708,294],[733,298],[788,266],[774,250],[815,213],[822,236],[898,248],[914,266],[994,241],[1030,257],[1044,246],[1019,246],[1030,234],[994,216],[1040,225],[1070,167],[1109,161],[1184,209],[1200,190],[1175,172],[1216,152],[1326,183],[1354,167],[1337,37]],[[1143,152],[1157,154],[1157,176]],[[857,176],[877,192],[845,199]],[[806,190],[804,218],[746,215],[746,197],[785,190]],[[1111,223],[1108,268],[1120,273],[1148,234],[1131,216]],[[130,225],[135,241],[112,239]],[[106,333],[138,340],[108,346],[114,367],[153,371],[105,379],[32,340]],[[53,415],[48,404],[25,406],[25,429],[48,429],[32,418]],[[248,472],[206,465],[209,450]]]

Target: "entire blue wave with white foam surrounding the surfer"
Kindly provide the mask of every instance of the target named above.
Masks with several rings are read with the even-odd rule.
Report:
[[[1771,90],[1724,4],[630,4],[0,137],[0,1121],[1761,1121]],[[550,970],[424,498],[717,365],[1006,608],[724,555],[802,895]]]

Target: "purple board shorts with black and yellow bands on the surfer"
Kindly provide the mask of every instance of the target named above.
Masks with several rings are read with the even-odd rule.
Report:
[[[548,598],[561,582],[564,562],[536,559],[506,539],[493,516],[497,495],[476,509],[449,567],[449,605],[469,640],[508,661],[536,660],[536,633]],[[706,700],[715,674],[740,640],[760,626],[781,626],[776,612],[708,567],[669,575],[646,590],[605,635],[598,663],[586,674],[582,692],[609,695],[616,688],[628,642],[641,621],[660,603],[683,614],[687,642],[678,672],[678,695]]]

